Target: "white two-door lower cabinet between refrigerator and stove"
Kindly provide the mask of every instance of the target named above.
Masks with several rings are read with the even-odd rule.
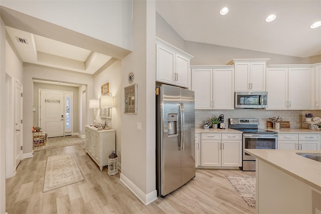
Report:
[[[202,133],[202,166],[242,166],[242,134]]]

